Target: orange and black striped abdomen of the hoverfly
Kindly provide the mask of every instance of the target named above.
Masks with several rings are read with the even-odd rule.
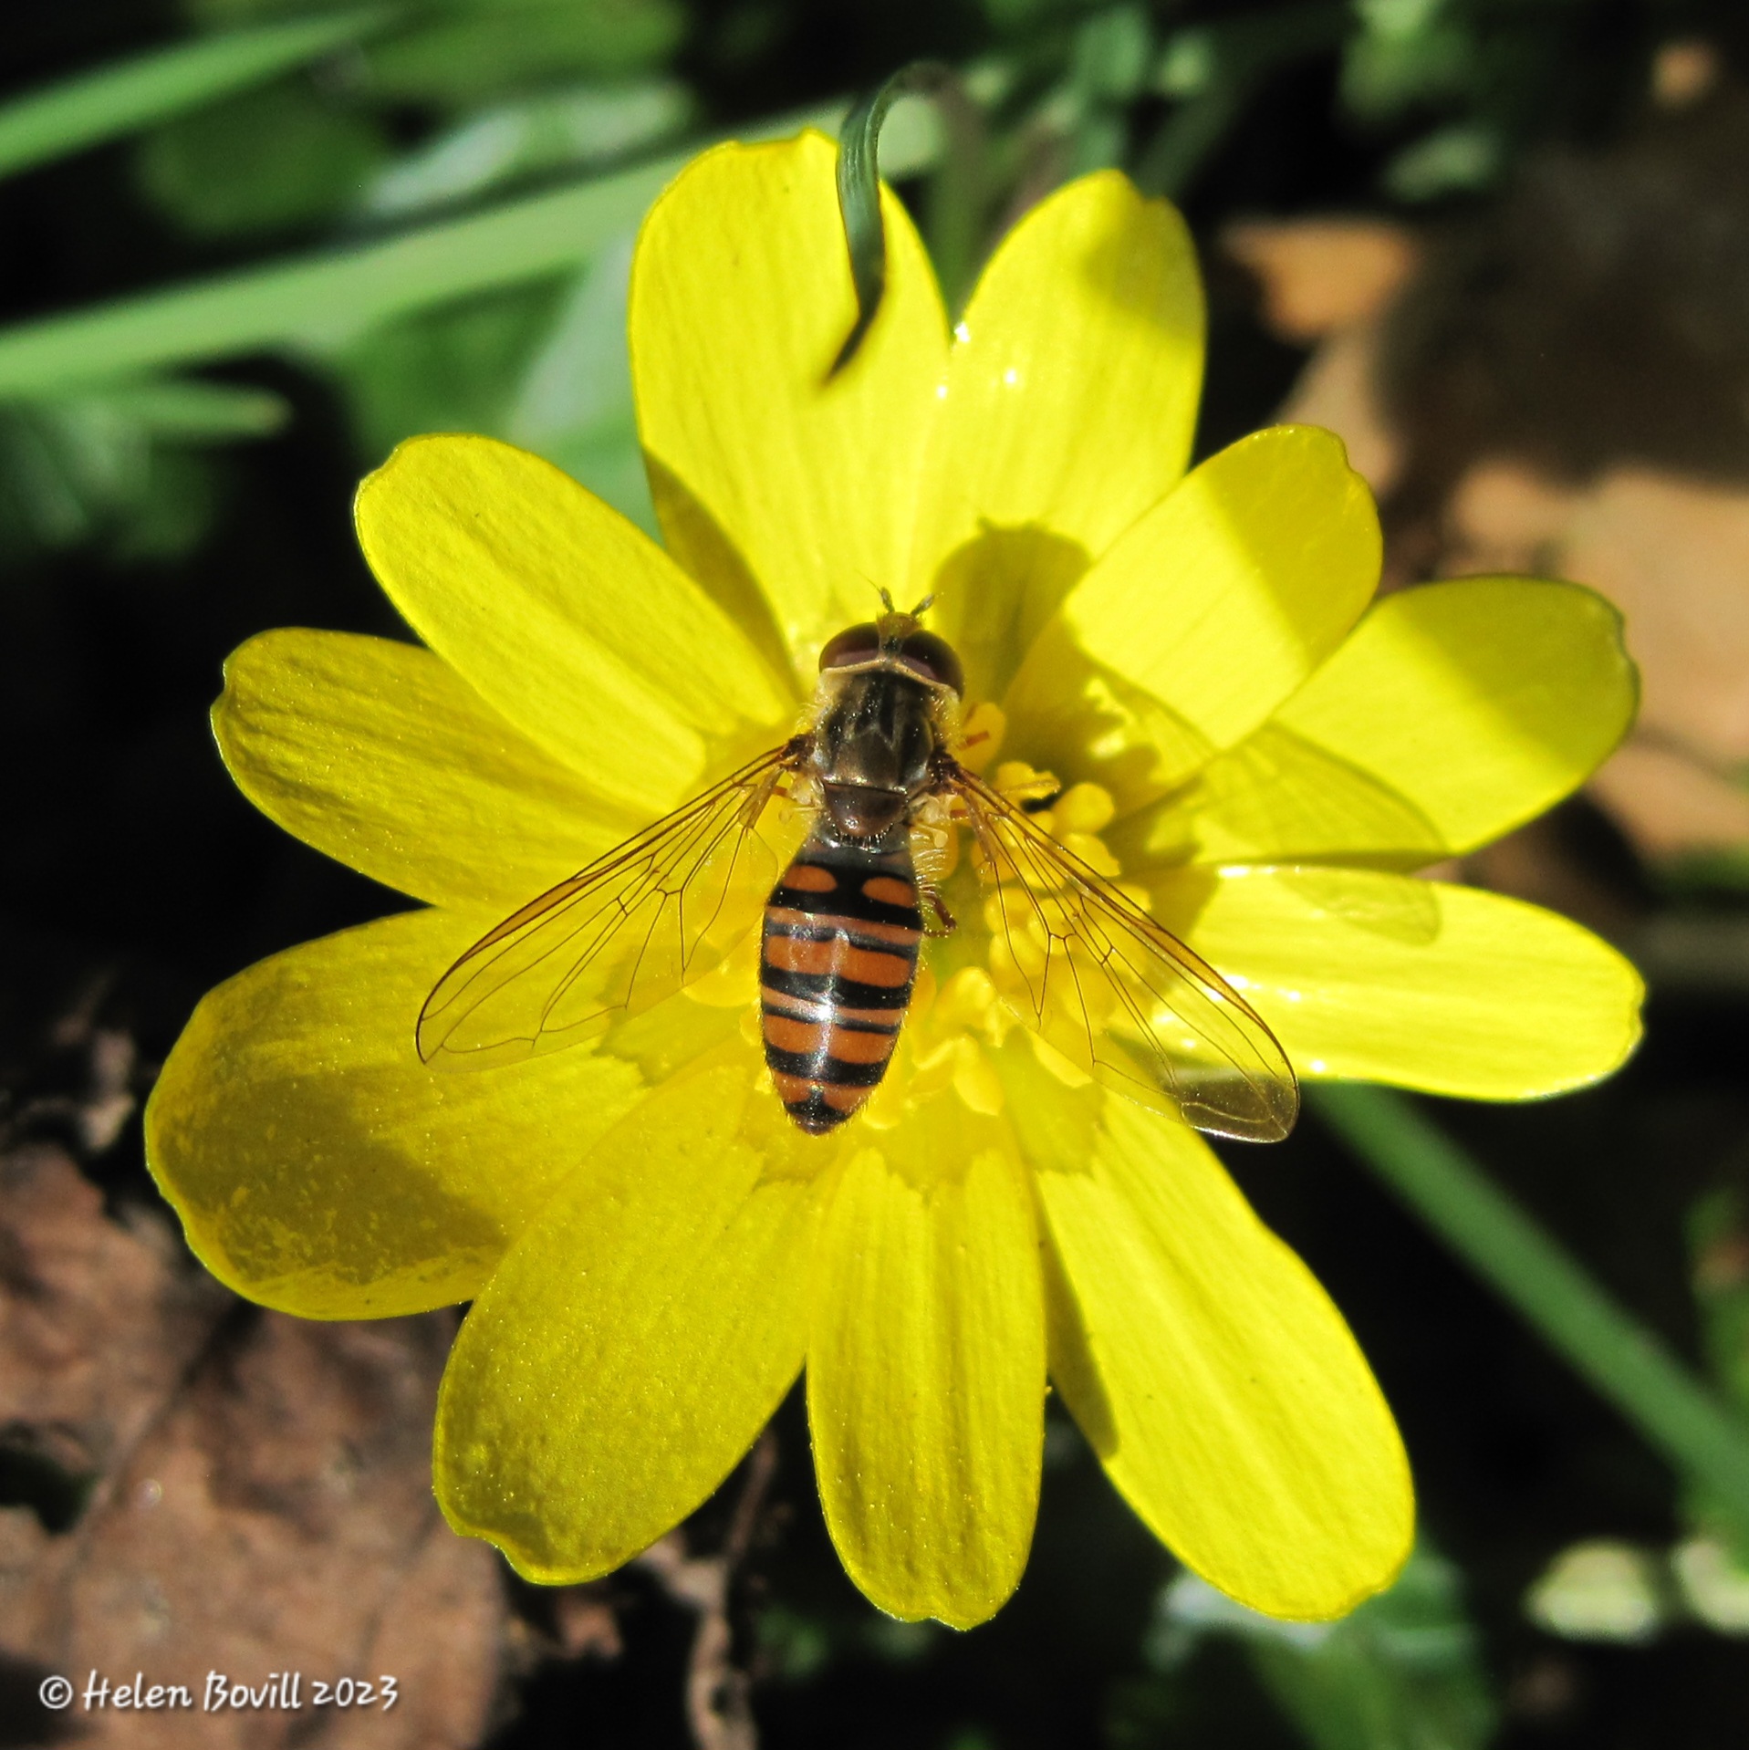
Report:
[[[765,905],[765,1062],[811,1136],[837,1129],[881,1085],[917,976],[923,914],[910,850],[814,835]]]

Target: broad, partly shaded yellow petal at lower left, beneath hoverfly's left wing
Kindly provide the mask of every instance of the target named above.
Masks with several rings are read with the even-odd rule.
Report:
[[[420,1003],[490,922],[383,919],[250,966],[194,1010],[145,1148],[214,1276],[303,1318],[466,1300],[639,1096],[629,1064],[583,1050],[478,1076],[418,1060]]]

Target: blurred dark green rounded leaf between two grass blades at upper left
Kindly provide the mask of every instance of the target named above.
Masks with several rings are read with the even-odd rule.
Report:
[[[137,168],[145,192],[186,229],[236,236],[357,205],[387,152],[380,124],[284,82],[159,128],[142,142]]]

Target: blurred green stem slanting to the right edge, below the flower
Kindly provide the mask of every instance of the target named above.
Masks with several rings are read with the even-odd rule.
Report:
[[[1404,1096],[1308,1090],[1313,1110],[1684,1475],[1749,1530],[1749,1424]]]

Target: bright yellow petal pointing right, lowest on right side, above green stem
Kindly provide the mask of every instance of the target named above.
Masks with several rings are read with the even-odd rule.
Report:
[[[1607,1076],[1640,1036],[1644,987],[1614,948],[1474,887],[1234,868],[1157,887],[1154,910],[1245,992],[1303,1076],[1534,1099]]]

